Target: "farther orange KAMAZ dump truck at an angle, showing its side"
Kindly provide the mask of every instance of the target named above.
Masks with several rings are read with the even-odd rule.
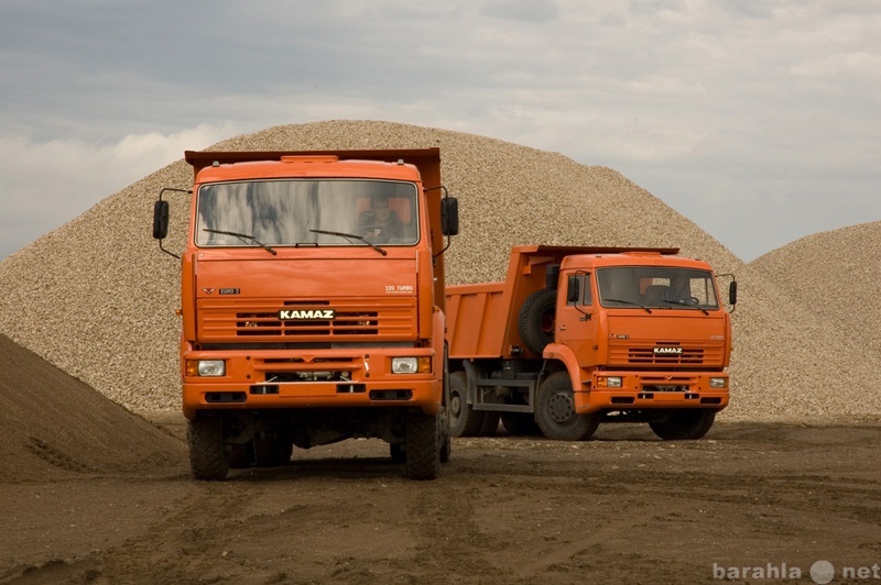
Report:
[[[447,287],[453,435],[500,418],[562,440],[600,422],[706,434],[728,405],[731,322],[710,266],[677,253],[516,246],[505,282]]]

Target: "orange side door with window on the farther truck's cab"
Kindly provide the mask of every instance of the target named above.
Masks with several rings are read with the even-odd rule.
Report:
[[[570,347],[580,365],[596,363],[597,310],[594,306],[592,274],[576,271],[563,279],[557,298],[555,340]]]

